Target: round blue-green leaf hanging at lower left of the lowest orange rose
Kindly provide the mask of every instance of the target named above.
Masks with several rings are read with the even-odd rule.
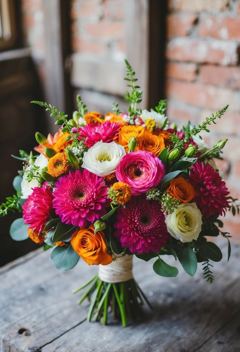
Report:
[[[56,269],[70,270],[74,268],[79,260],[79,255],[71,245],[57,246],[51,253],[51,260]]]

